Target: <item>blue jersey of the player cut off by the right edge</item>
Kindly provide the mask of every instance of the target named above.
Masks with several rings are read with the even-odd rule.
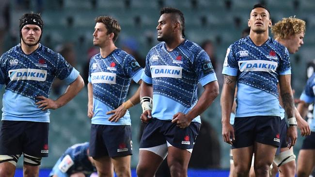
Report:
[[[315,74],[313,74],[307,80],[306,86],[299,99],[304,101],[305,103],[314,104],[315,102]],[[315,110],[313,110],[313,118],[308,120],[312,132],[315,132],[314,116],[315,116]]]

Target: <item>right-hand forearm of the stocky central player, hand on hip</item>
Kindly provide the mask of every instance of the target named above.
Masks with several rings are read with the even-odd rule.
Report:
[[[196,105],[186,114],[191,120],[202,114],[219,95],[218,81],[212,81],[204,86],[202,93]]]

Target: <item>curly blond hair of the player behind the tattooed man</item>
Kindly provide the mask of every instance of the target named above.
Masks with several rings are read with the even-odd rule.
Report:
[[[283,18],[271,27],[274,38],[286,39],[288,36],[305,33],[305,21],[290,16]]]

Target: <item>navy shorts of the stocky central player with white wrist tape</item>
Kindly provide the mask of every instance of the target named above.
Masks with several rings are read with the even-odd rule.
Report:
[[[168,141],[173,147],[192,149],[200,126],[198,122],[191,122],[188,127],[181,129],[171,120],[152,118],[144,127],[140,148],[152,148],[166,144]]]

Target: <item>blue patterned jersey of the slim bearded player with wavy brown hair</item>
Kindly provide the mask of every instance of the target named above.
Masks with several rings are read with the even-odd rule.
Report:
[[[90,61],[89,82],[93,85],[92,124],[131,125],[127,111],[118,122],[110,122],[106,112],[125,102],[131,78],[138,83],[143,69],[136,59],[121,49],[115,49],[105,59],[98,53]]]

